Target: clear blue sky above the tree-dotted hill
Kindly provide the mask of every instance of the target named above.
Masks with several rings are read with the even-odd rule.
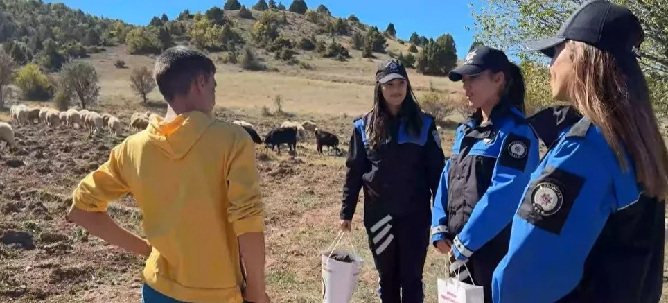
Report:
[[[268,1],[268,0],[265,0]],[[309,8],[324,4],[336,17],[348,17],[355,14],[365,24],[378,26],[380,31],[394,23],[397,37],[407,40],[416,31],[419,35],[436,39],[443,33],[455,37],[457,55],[466,57],[468,46],[473,40],[473,33],[466,31],[469,26],[473,31],[473,18],[468,8],[470,2],[479,0],[306,0]],[[169,19],[188,8],[191,12],[205,12],[211,6],[222,7],[225,0],[60,0],[72,8],[79,8],[93,15],[122,19],[130,24],[146,25],[153,16],[167,14]],[[246,6],[253,6],[257,0],[239,0]],[[276,0],[286,7],[292,0]]]

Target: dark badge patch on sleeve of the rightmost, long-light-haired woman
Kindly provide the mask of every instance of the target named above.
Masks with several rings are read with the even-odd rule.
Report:
[[[549,166],[529,185],[517,214],[538,228],[561,234],[583,184],[581,176]]]

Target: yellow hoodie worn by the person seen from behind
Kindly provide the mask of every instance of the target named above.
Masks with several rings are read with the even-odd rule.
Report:
[[[153,246],[145,282],[186,302],[240,303],[237,237],[263,232],[254,144],[245,130],[201,112],[163,121],[114,147],[73,192],[73,205],[105,211],[132,193]]]

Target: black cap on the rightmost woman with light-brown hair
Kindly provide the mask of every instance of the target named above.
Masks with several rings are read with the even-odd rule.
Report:
[[[563,23],[554,37],[525,43],[528,51],[554,57],[554,49],[565,40],[576,40],[615,55],[640,57],[644,33],[638,17],[624,6],[606,0],[582,3]]]

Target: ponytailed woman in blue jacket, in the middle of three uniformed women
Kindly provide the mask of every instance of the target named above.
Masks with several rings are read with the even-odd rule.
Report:
[[[457,128],[432,214],[432,243],[450,253],[450,273],[484,287],[507,252],[510,223],[529,174],[538,164],[538,138],[525,121],[519,67],[498,49],[480,46],[450,80],[462,80],[476,109]],[[466,265],[466,266],[464,266]]]

